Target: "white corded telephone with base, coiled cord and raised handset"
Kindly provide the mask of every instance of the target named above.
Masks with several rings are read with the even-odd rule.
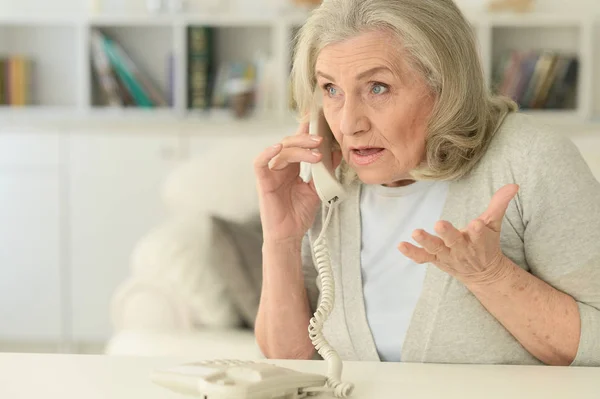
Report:
[[[320,392],[343,398],[352,393],[354,386],[341,382],[342,361],[339,355],[322,334],[323,324],[333,309],[335,297],[324,235],[334,208],[344,198],[344,189],[335,178],[331,159],[333,134],[320,108],[311,114],[309,133],[323,137],[319,146],[323,160],[311,166],[311,174],[319,198],[329,208],[321,234],[313,245],[322,289],[319,306],[310,320],[308,335],[327,362],[327,377],[268,363],[212,360],[157,370],[153,376],[156,384],[201,399],[300,399]]]

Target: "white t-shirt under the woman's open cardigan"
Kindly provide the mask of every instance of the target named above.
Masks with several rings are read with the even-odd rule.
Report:
[[[400,361],[426,265],[399,250],[416,229],[435,234],[448,194],[445,182],[405,187],[365,185],[361,192],[361,270],[367,319],[382,361]],[[418,246],[418,245],[417,245]]]

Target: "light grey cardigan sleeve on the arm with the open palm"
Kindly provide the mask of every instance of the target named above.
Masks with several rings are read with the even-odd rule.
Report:
[[[600,183],[575,144],[538,135],[519,191],[531,272],[578,304],[581,335],[572,366],[600,366]]]

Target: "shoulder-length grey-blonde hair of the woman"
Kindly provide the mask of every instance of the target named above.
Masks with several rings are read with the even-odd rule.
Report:
[[[364,32],[394,34],[407,62],[436,98],[418,180],[452,180],[481,159],[494,133],[517,104],[492,95],[473,30],[452,0],[324,0],[300,29],[292,91],[300,115],[315,106],[315,64],[327,45]]]

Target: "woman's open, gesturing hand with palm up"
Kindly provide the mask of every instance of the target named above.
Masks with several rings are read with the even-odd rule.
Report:
[[[467,286],[498,281],[507,275],[510,264],[500,248],[502,219],[518,191],[516,184],[502,187],[487,210],[466,229],[458,230],[447,221],[439,221],[434,227],[439,237],[415,230],[412,237],[422,248],[402,242],[398,249],[416,263],[433,263]]]

